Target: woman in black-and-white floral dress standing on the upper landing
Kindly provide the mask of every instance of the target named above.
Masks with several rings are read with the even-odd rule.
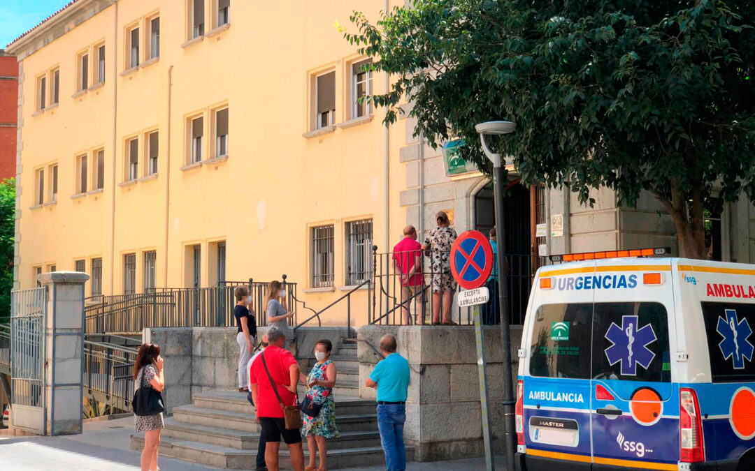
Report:
[[[433,324],[440,323],[440,306],[443,306],[443,324],[451,324],[451,301],[456,291],[456,282],[451,276],[451,246],[456,240],[456,231],[449,226],[448,215],[439,212],[435,216],[438,227],[430,231],[423,250],[430,249],[430,270],[433,272]]]

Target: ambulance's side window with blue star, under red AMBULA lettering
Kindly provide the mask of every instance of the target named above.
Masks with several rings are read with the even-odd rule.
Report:
[[[713,383],[755,381],[755,304],[702,302]]]

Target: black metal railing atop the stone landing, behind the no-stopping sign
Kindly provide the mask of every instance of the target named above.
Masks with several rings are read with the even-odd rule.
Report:
[[[427,255],[430,255],[429,257]],[[427,250],[411,252],[386,252],[377,253],[374,248],[373,272],[374,272],[374,296],[373,308],[369,323],[386,325],[421,325],[442,322],[444,313],[448,312],[451,323],[471,325],[474,323],[473,307],[458,307],[453,299],[442,297],[439,293],[433,293],[440,286],[458,286],[451,276],[450,265],[435,264],[430,262],[436,252]],[[442,252],[445,260],[448,260],[448,252]],[[402,265],[406,258],[419,256],[420,268],[416,274],[408,277],[402,273]],[[529,292],[532,288],[532,256],[531,255],[506,255],[508,270],[507,284],[509,289],[509,323],[522,324],[527,310]],[[398,266],[396,264],[399,264]],[[489,283],[491,301],[479,308],[482,310],[483,319],[488,324],[500,323],[498,314],[498,287],[497,281]],[[433,288],[436,287],[436,289]],[[445,303],[445,304],[444,304]],[[486,312],[487,311],[487,312]]]

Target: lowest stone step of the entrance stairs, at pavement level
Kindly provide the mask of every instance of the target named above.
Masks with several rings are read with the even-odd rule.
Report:
[[[140,450],[144,446],[144,436],[131,436],[131,449]],[[160,440],[160,456],[178,458],[193,463],[216,466],[223,469],[254,469],[257,456],[256,450],[236,450],[219,445],[178,440],[165,437]],[[407,458],[411,460],[411,448],[407,448]],[[309,456],[304,451],[305,460]],[[305,461],[306,463],[306,461]],[[346,448],[328,450],[328,468],[348,468],[356,466],[372,466],[385,463],[383,448]],[[281,469],[291,469],[291,457],[286,445],[281,445],[279,466]]]

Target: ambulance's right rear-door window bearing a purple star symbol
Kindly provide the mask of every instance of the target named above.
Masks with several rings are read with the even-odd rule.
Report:
[[[671,381],[663,304],[596,303],[593,329],[593,379]]]

